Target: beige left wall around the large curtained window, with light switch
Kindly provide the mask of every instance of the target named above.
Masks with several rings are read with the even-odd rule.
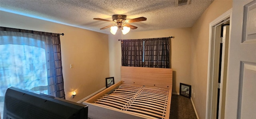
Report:
[[[0,26],[64,33],[60,36],[66,99],[77,102],[105,87],[108,35],[0,11]],[[70,69],[70,64],[73,68]],[[77,95],[72,98],[72,91]]]

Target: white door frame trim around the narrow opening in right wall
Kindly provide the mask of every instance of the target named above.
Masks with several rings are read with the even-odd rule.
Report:
[[[230,29],[231,29],[231,18],[232,18],[232,8],[213,20],[209,25],[209,50],[208,50],[208,71],[207,71],[207,91],[206,91],[206,119],[212,119],[214,117],[214,103],[213,100],[213,86],[214,86],[214,72],[216,67],[214,66],[214,51],[215,51],[215,34],[212,28],[222,22],[223,20],[230,18]],[[231,30],[229,31],[229,33]],[[229,34],[230,36],[230,34]],[[230,37],[229,37],[230,38]],[[230,42],[228,44],[230,46]],[[228,47],[230,48],[230,47]],[[229,49],[228,49],[229,51]],[[229,57],[228,57],[229,58]]]

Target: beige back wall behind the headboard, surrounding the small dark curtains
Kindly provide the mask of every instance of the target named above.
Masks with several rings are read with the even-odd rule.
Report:
[[[191,28],[129,32],[123,36],[120,34],[120,31],[118,31],[116,35],[109,35],[108,40],[110,76],[114,76],[115,81],[120,81],[121,43],[118,39],[162,38],[174,36],[175,38],[171,39],[171,65],[174,71],[172,92],[179,93],[180,82],[189,85],[191,84]]]

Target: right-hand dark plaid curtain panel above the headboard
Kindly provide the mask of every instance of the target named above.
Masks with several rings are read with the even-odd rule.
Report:
[[[145,39],[144,67],[170,68],[170,38]]]

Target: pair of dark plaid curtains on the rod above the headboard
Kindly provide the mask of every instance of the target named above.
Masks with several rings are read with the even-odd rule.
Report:
[[[170,68],[170,38],[122,40],[122,66]]]

